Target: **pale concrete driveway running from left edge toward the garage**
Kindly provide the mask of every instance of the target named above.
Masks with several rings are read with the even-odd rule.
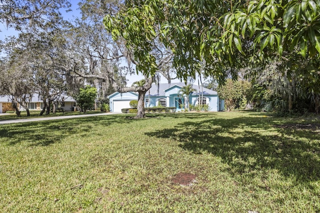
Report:
[[[25,118],[25,119],[14,119],[14,120],[1,120],[0,124],[22,123],[22,122],[31,122],[31,121],[41,121],[41,120],[57,120],[57,119],[66,119],[66,118],[75,118],[75,117],[91,117],[91,116],[101,116],[101,115],[120,114],[120,113],[121,112],[105,112],[105,113],[96,113],[96,114],[78,114],[78,115],[65,115],[65,116],[56,116],[56,117],[37,117],[37,118]]]

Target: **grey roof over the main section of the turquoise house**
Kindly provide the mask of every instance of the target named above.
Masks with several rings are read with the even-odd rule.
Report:
[[[152,83],[151,88],[149,89],[151,96],[165,96],[165,91],[172,88],[172,87],[183,87],[185,86],[184,82],[180,83],[159,83],[159,86],[155,83]],[[211,89],[205,88],[203,86],[199,86],[196,84],[192,84],[192,87],[195,89],[194,92],[191,93],[191,95],[199,95],[202,92],[203,89],[203,95],[217,95],[216,91],[213,91]],[[148,91],[146,92],[148,94]]]

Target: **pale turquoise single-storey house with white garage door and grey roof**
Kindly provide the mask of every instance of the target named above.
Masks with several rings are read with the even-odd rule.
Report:
[[[167,106],[176,107],[177,111],[184,109],[186,105],[186,98],[179,94],[179,90],[184,83],[160,83],[159,85],[152,83],[151,88],[145,93],[144,106]],[[196,90],[189,95],[190,104],[197,105],[199,102],[199,95],[201,96],[203,90],[202,103],[208,104],[209,111],[224,110],[224,101],[219,99],[216,91],[207,89],[198,85],[192,85]],[[136,92],[114,92],[107,96],[109,98],[110,111],[119,112],[121,108],[129,108],[130,100],[137,100],[138,94]],[[200,97],[201,98],[201,97]]]

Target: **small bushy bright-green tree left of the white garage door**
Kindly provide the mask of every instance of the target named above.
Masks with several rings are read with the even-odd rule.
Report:
[[[96,88],[90,85],[86,85],[84,86],[84,88],[80,88],[79,94],[74,96],[74,99],[76,100],[78,106],[81,108],[81,111],[85,113],[88,108],[93,106],[96,95]]]

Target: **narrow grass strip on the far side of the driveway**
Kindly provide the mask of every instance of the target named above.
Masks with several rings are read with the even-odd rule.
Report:
[[[28,118],[38,118],[38,117],[56,117],[56,116],[65,116],[65,115],[77,115],[77,114],[83,114],[83,112],[80,111],[64,111],[64,112],[55,112],[50,114],[39,115],[40,111],[37,110],[30,110],[30,116],[26,116],[25,111],[21,111],[21,117],[17,117],[16,113],[3,113],[0,115],[0,121],[1,120],[12,120],[12,119],[28,119]],[[101,111],[86,111],[87,114],[94,114],[94,113],[102,113]]]

